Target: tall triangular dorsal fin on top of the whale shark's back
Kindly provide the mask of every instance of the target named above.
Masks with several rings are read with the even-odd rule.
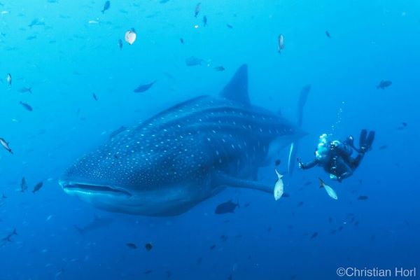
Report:
[[[221,97],[243,104],[250,104],[248,96],[248,65],[237,69],[228,85],[221,91]]]

